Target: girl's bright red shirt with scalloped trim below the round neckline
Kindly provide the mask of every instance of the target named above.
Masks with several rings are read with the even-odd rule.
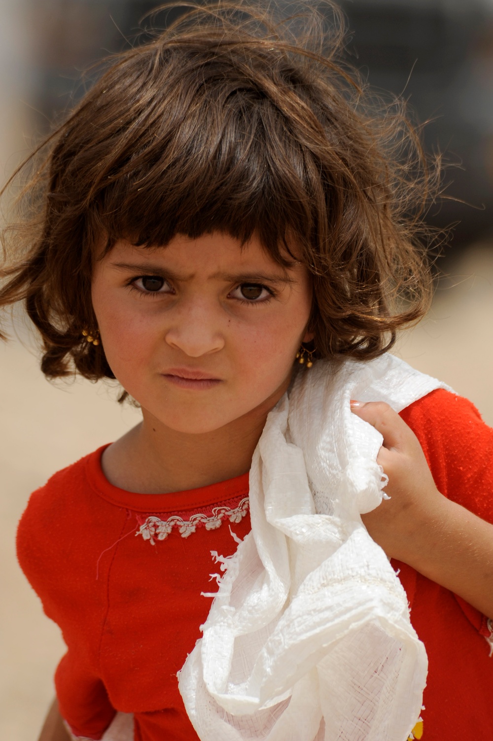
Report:
[[[493,522],[493,430],[474,406],[438,390],[401,416],[442,494]],[[56,671],[60,711],[74,734],[93,739],[117,709],[134,714],[139,741],[193,741],[176,673],[210,608],[201,593],[216,591],[211,551],[234,553],[230,528],[240,538],[250,530],[248,474],[177,494],[131,494],[105,479],[103,449],[34,492],[19,524],[21,568],[67,643]],[[183,537],[191,529],[183,523],[204,514]],[[175,526],[159,540],[173,515],[185,533]],[[492,739],[486,617],[408,565],[394,568],[429,656],[423,741]]]

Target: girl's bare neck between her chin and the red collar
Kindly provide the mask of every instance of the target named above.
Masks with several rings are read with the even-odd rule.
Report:
[[[103,454],[105,476],[137,494],[186,491],[240,476],[250,469],[265,419],[277,401],[269,399],[245,417],[200,434],[171,430],[143,410],[143,421]]]

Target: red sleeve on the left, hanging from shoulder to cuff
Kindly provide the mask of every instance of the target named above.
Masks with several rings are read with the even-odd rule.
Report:
[[[60,471],[31,495],[19,522],[17,556],[44,613],[62,629],[67,644],[55,676],[60,713],[75,736],[99,740],[116,711],[89,648],[97,626],[90,619],[87,585],[72,559],[74,543],[81,541],[73,514],[77,466]]]

